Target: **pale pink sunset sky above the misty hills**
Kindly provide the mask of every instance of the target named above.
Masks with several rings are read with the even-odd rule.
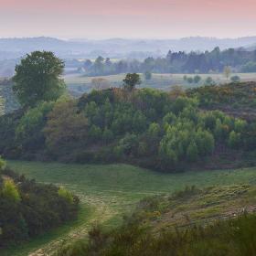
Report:
[[[0,37],[256,36],[256,0],[0,0]]]

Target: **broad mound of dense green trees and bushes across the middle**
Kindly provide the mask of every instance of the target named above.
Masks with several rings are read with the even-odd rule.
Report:
[[[195,97],[112,88],[79,100],[40,101],[13,118],[0,118],[0,135],[5,136],[0,153],[29,160],[126,162],[168,171],[207,161],[219,144],[248,148],[255,141],[251,124],[219,111],[201,112],[202,99],[220,90],[208,88],[198,89]],[[224,97],[221,90],[218,97]]]

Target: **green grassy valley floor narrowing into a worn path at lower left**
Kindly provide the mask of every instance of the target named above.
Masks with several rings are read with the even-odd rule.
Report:
[[[82,208],[80,218],[74,223],[3,254],[14,256],[27,255],[39,248],[42,249],[30,255],[40,255],[42,251],[50,254],[65,240],[86,236],[94,222],[100,222],[106,228],[113,227],[143,197],[171,193],[190,185],[256,185],[255,168],[161,174],[131,165],[65,165],[19,161],[9,161],[8,164],[18,173],[36,178],[38,182],[69,188],[80,197]]]

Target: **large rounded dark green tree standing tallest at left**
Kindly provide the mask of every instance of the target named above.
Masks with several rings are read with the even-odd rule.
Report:
[[[35,51],[16,65],[13,90],[20,103],[35,106],[38,101],[55,101],[65,90],[64,63],[52,52]]]

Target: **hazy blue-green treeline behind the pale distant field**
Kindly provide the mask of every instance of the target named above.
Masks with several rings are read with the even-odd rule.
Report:
[[[78,63],[77,63],[78,64]],[[80,64],[79,64],[80,65]],[[80,65],[79,71],[90,76],[102,76],[127,72],[154,73],[218,73],[229,66],[237,72],[256,72],[256,50],[247,51],[243,48],[220,51],[186,53],[169,51],[165,58],[147,58],[112,61],[101,56],[91,61],[87,59]]]

